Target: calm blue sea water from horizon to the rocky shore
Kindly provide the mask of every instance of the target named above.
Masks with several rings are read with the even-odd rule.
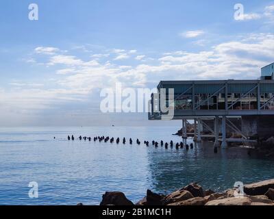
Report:
[[[0,128],[0,205],[98,205],[105,191],[117,190],[136,202],[147,189],[167,193],[193,181],[222,191],[236,181],[274,179],[274,161],[248,157],[246,149],[223,149],[216,155],[210,143],[187,152],[66,140],[74,134],[133,138],[134,143],[136,138],[180,142],[172,136],[176,131],[177,127]],[[39,185],[39,198],[28,196],[31,181]]]

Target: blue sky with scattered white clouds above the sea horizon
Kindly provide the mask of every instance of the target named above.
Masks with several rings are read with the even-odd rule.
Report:
[[[38,21],[29,20],[31,3]],[[258,79],[274,62],[267,0],[3,0],[0,27],[3,127],[180,125],[102,113],[100,92],[116,83]]]

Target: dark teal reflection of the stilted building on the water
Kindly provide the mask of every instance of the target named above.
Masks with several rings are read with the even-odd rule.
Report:
[[[219,149],[215,154],[211,142],[195,144],[189,151],[149,151],[148,157],[151,186],[157,192],[172,192],[192,182],[221,192],[236,181],[274,178],[272,160],[249,157],[242,148]]]

